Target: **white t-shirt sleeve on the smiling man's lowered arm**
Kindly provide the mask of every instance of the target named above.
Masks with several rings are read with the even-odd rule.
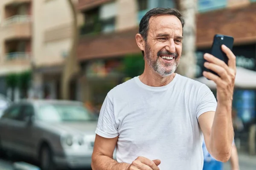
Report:
[[[113,104],[108,96],[106,96],[102,104],[95,133],[104,138],[115,138],[118,136]]]

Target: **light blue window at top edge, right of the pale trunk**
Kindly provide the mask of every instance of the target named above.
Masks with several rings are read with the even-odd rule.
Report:
[[[227,0],[198,0],[198,11],[212,11],[227,6]]]

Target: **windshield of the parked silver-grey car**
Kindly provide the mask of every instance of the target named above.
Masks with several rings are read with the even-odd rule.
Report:
[[[70,104],[41,104],[38,117],[50,122],[95,120],[95,117],[83,106]]]

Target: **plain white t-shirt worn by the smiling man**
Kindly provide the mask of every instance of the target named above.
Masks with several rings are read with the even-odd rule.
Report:
[[[138,156],[160,159],[160,170],[202,170],[202,132],[198,117],[215,111],[210,89],[176,74],[168,85],[151,87],[134,77],[113,88],[99,114],[96,134],[119,136],[118,162]]]

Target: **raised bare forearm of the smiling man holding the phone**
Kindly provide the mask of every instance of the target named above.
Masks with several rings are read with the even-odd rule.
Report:
[[[232,117],[232,101],[218,103],[210,134],[210,150],[212,156],[219,161],[228,161],[234,137]]]

